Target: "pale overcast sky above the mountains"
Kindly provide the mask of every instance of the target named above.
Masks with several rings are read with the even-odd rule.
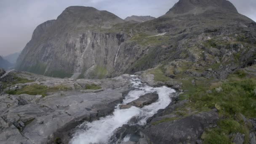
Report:
[[[256,21],[256,0],[230,0],[238,12]],[[107,10],[127,16],[164,15],[178,0],[0,0],[0,55],[21,51],[37,25],[56,19],[73,5]]]

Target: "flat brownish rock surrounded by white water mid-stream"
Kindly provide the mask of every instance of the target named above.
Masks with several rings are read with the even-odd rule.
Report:
[[[132,105],[132,106],[141,108],[141,107],[144,107],[145,105],[152,104],[153,102],[157,101],[158,98],[159,98],[159,96],[156,92],[147,93],[147,94],[141,96],[139,99],[136,99],[136,100],[128,103],[128,105]]]

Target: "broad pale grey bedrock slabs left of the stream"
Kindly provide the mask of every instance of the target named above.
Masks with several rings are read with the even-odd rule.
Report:
[[[37,75],[24,72],[20,77]],[[129,90],[129,76],[100,81],[34,77],[37,85],[69,85],[82,87],[88,83],[100,84],[103,90],[94,92],[57,91],[48,96],[0,96],[0,143],[45,144],[54,143],[57,136],[75,128],[84,120],[92,121],[111,113]],[[39,81],[38,81],[39,80]],[[43,80],[40,82],[40,80]],[[27,83],[32,85],[33,83]]]

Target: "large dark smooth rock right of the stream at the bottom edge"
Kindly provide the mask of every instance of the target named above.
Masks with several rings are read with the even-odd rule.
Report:
[[[142,130],[154,144],[179,144],[196,143],[209,125],[215,124],[219,120],[215,110],[201,112],[196,115],[185,117],[175,122],[163,122],[158,125],[151,125]]]

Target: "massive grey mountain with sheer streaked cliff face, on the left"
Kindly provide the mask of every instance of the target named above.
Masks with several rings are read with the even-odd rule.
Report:
[[[123,20],[91,7],[67,8],[34,31],[17,60],[19,70],[53,77],[103,78],[113,71],[122,33],[101,33]],[[93,74],[92,74],[93,73]]]

